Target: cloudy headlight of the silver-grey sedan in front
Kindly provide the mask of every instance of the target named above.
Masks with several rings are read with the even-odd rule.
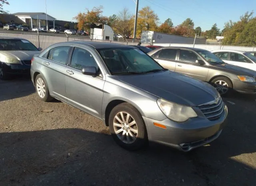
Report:
[[[189,118],[197,117],[196,112],[192,107],[183,106],[168,102],[163,99],[158,99],[157,104],[162,112],[171,120],[176,122],[184,122]]]

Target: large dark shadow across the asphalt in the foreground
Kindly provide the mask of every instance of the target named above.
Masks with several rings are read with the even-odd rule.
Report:
[[[253,132],[224,130],[210,146],[189,153],[150,144],[129,152],[108,131],[81,129],[0,133],[0,183],[26,186],[251,186],[256,172],[234,156],[255,153]],[[255,160],[254,160],[255,165]]]

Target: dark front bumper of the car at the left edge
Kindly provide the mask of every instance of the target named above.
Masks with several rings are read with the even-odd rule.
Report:
[[[1,63],[4,72],[8,74],[29,74],[30,65]]]

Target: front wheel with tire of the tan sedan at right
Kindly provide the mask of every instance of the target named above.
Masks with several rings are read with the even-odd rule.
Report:
[[[222,96],[230,94],[233,90],[232,82],[226,77],[214,78],[211,81],[211,84]]]

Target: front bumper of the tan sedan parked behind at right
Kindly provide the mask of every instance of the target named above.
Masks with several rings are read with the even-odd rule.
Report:
[[[256,82],[233,80],[233,89],[243,94],[256,94]]]

